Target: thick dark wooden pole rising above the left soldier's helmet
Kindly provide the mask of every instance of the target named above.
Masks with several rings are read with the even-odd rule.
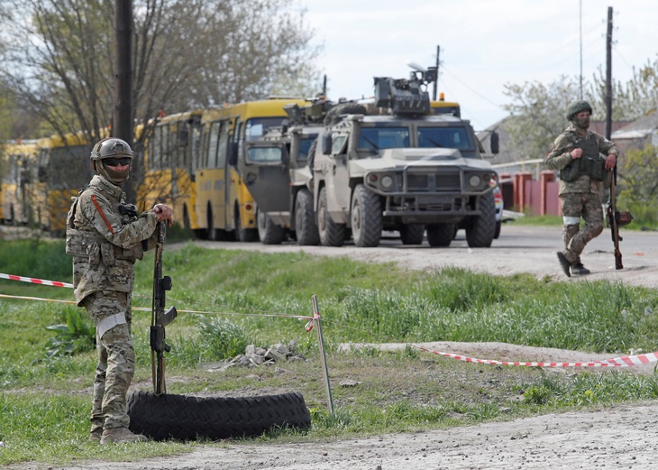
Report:
[[[133,144],[133,0],[114,0],[112,135]]]

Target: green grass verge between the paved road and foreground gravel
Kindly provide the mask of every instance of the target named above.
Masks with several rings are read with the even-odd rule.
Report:
[[[2,272],[69,281],[61,241],[0,244]],[[136,264],[133,304],[150,307],[152,253]],[[305,253],[261,254],[168,246],[168,305],[180,312],[167,328],[168,392],[241,394],[298,391],[311,410],[306,434],[263,439],[340,438],[436,429],[486,420],[654,400],[656,375],[467,364],[413,347],[395,353],[344,342],[500,341],[625,355],[658,350],[658,291],[608,281],[566,283],[529,275],[496,277],[457,268],[408,272],[392,263],[356,263]],[[72,300],[69,289],[0,280],[0,293]],[[326,407],[315,329],[305,330],[317,295],[334,392]],[[87,442],[95,352],[48,357],[56,331],[75,306],[0,299],[0,465],[33,460],[138,459],[186,452],[196,443],[148,442],[109,449]],[[84,312],[84,310],[81,310]],[[654,313],[655,312],[655,313]],[[88,321],[87,318],[85,318]],[[133,314],[137,372],[133,388],[151,389],[149,312]],[[79,328],[85,331],[85,328]],[[199,367],[245,344],[297,342],[307,361],[277,367]],[[491,357],[490,359],[497,359]],[[525,360],[525,358],[516,358]],[[359,382],[345,387],[343,380]],[[219,444],[213,444],[219,445]]]

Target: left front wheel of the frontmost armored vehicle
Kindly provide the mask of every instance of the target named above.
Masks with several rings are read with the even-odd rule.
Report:
[[[379,246],[384,229],[379,196],[358,184],[352,194],[350,217],[354,244],[361,247]]]

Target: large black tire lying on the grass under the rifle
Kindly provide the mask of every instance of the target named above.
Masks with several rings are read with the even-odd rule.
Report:
[[[134,433],[154,440],[256,437],[275,427],[311,426],[298,392],[235,398],[133,392],[128,415]]]

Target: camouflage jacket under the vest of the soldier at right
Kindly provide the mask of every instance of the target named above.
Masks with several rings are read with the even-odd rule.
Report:
[[[573,160],[571,158],[571,151],[578,147],[578,141],[580,139],[592,138],[596,141],[600,153],[605,156],[612,154],[617,156],[617,158],[619,157],[619,151],[617,151],[615,144],[608,141],[603,135],[591,131],[581,134],[580,129],[571,124],[562,134],[558,135],[553,143],[553,147],[546,154],[546,168],[549,170],[562,170]],[[574,192],[600,194],[602,190],[603,181],[592,180],[589,176],[583,175],[578,180],[571,182],[561,180],[559,194]]]

